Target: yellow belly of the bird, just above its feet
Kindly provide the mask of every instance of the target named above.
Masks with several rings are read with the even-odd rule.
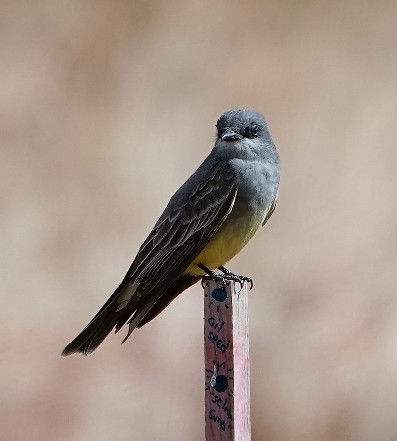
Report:
[[[197,267],[200,263],[211,270],[224,265],[247,245],[261,225],[261,220],[224,224],[186,272],[203,275],[204,271]]]

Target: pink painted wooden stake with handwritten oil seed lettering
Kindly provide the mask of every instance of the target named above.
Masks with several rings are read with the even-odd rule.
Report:
[[[248,286],[204,288],[206,441],[251,440]]]

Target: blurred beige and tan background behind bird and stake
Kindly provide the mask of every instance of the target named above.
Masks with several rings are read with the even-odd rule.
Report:
[[[397,439],[397,3],[2,1],[2,440],[203,440],[203,292],[60,358],[230,108],[277,209],[250,293],[252,439]],[[183,330],[181,335],[180,330]]]

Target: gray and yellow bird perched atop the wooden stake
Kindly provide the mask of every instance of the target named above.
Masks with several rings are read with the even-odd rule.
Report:
[[[224,265],[274,212],[279,181],[264,116],[247,109],[223,113],[210,154],[171,197],[120,285],[62,356],[92,353],[128,322],[124,343],[203,277],[252,283]]]

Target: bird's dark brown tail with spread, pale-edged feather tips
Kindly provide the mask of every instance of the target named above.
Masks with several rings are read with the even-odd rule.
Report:
[[[137,286],[124,280],[83,331],[63,349],[62,356],[92,353],[113,328],[119,331],[133,316],[129,322],[128,337],[136,327],[140,328],[154,319],[178,294],[199,279],[199,276],[183,274],[163,292],[148,292],[143,296],[134,295]],[[123,301],[123,297],[126,300]]]

